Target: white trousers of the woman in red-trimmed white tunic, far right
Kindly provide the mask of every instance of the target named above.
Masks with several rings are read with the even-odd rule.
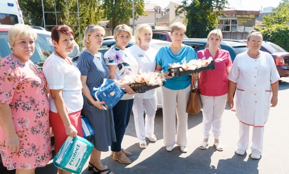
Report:
[[[249,130],[250,126],[239,122],[239,141],[237,142],[238,149],[248,150],[249,148]],[[264,127],[254,127],[252,135],[252,151],[263,152],[263,135]]]

